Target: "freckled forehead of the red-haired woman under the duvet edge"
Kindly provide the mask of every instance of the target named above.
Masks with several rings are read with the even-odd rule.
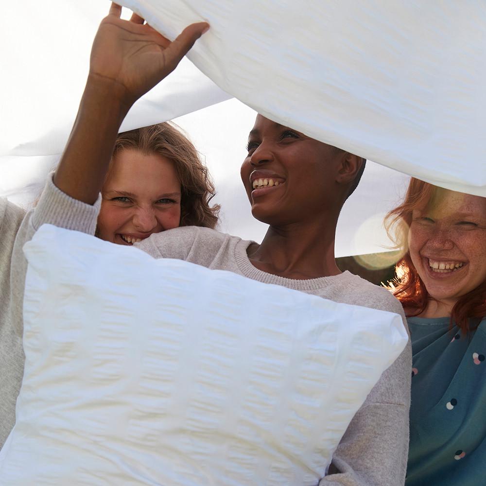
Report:
[[[436,217],[475,215],[486,219],[486,198],[438,188],[426,210]]]

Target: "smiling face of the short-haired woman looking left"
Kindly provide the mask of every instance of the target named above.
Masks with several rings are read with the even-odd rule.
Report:
[[[241,176],[255,218],[278,226],[335,212],[343,151],[261,115],[247,148]]]

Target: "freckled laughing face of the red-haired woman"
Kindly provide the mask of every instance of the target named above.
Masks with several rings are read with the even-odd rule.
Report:
[[[438,189],[413,211],[408,243],[427,292],[451,308],[486,280],[486,198]]]

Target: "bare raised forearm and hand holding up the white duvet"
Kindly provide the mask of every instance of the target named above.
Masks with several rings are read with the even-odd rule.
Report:
[[[174,41],[133,14],[122,20],[112,3],[91,50],[89,75],[76,121],[54,184],[87,204],[101,191],[115,140],[130,107],[170,74],[209,28],[206,22],[186,27]]]

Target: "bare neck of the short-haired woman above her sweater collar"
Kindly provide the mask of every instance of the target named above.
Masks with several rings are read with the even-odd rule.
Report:
[[[334,258],[335,228],[335,223],[316,222],[270,226],[261,244],[248,248],[248,258],[258,269],[285,278],[339,275]]]

